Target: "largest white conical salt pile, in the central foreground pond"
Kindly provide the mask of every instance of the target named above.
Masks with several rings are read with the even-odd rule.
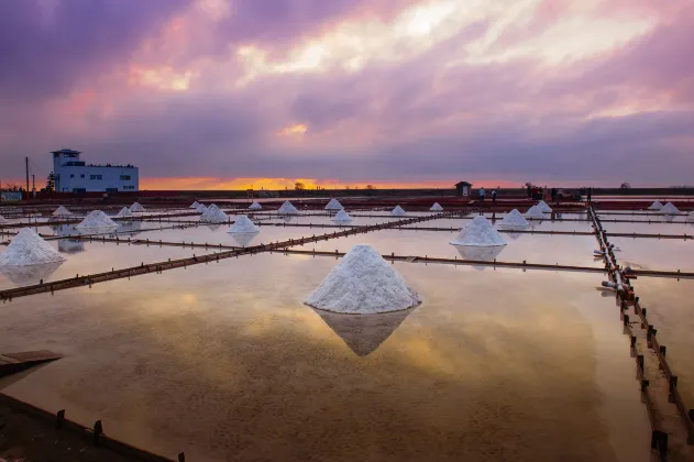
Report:
[[[306,299],[313,308],[353,315],[399,311],[420,302],[393,266],[366,244],[354,245]]]

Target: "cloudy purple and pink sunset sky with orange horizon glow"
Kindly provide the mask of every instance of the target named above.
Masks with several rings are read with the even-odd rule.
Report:
[[[693,185],[694,0],[1,0],[0,180]]]

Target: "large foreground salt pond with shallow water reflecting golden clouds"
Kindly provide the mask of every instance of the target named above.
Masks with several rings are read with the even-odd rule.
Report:
[[[15,299],[0,349],[66,358],[3,393],[172,459],[648,460],[599,275],[396,264],[425,304],[384,334],[302,304],[335,264],[262,254]]]

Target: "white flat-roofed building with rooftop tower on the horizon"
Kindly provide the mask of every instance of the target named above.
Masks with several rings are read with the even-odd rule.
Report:
[[[53,151],[57,193],[118,193],[140,190],[137,167],[132,165],[87,165],[79,151]]]

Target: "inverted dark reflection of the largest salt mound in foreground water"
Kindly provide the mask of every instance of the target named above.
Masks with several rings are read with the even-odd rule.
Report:
[[[377,315],[342,315],[311,308],[357,356],[374,352],[418,307]]]

